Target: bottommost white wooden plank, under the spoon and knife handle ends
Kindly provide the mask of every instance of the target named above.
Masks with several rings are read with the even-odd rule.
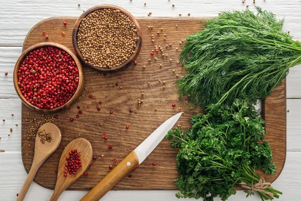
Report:
[[[272,186],[283,192],[279,201],[296,201],[299,200],[299,187],[301,186],[300,167],[301,152],[287,152],[286,165],[278,179]],[[27,176],[23,167],[21,154],[19,152],[0,153],[0,201],[11,201],[16,199],[17,193],[20,191],[22,184]],[[156,175],[154,175],[156,176]],[[157,175],[160,176],[160,175]],[[5,185],[4,185],[5,184]],[[33,183],[27,193],[25,200],[44,201],[49,200],[52,190],[43,188],[36,183]],[[175,190],[125,190],[125,191],[109,191],[101,200],[102,201],[178,201],[175,197]],[[65,191],[62,193],[59,200],[79,200],[87,191]],[[244,200],[245,193],[238,191],[236,195],[231,196],[229,201]],[[181,199],[194,200],[194,199]],[[215,199],[218,201],[220,199]],[[251,196],[249,201],[258,201],[258,196]]]

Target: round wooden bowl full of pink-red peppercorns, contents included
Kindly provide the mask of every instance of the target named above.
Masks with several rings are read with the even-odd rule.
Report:
[[[39,43],[19,57],[14,86],[22,102],[43,113],[69,108],[81,95],[84,72],[80,60],[58,43]]]

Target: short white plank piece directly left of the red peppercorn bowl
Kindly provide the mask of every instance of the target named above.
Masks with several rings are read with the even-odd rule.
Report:
[[[21,52],[21,47],[0,47],[0,98],[18,98],[13,71]],[[9,74],[5,75],[5,72]]]

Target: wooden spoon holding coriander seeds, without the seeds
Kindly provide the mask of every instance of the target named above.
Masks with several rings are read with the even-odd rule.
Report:
[[[31,185],[32,181],[34,180],[34,177],[40,168],[40,166],[44,163],[44,161],[58,148],[60,142],[61,142],[61,131],[60,129],[52,123],[46,123],[43,124],[39,131],[46,131],[48,133],[51,133],[51,137],[53,137],[53,140],[51,142],[45,142],[43,144],[41,142],[41,138],[38,137],[38,134],[36,136],[36,142],[35,142],[35,156],[34,156],[34,161],[32,164],[32,167],[28,173],[28,176],[22,186],[21,191],[19,192],[19,195],[17,197],[17,201],[21,201],[24,199],[29,186]]]

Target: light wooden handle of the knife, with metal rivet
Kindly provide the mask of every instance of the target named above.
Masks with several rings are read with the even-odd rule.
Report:
[[[127,173],[139,165],[134,151],[130,152],[112,171],[94,186],[80,201],[97,201],[114,187]]]

